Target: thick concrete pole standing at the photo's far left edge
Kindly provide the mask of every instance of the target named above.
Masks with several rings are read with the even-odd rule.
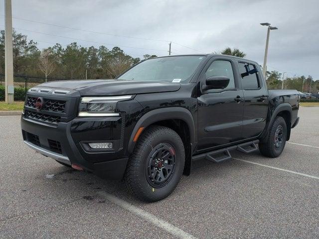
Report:
[[[4,59],[5,59],[5,102],[13,103],[13,53],[12,53],[12,12],[11,0],[4,0],[5,27],[4,27]]]

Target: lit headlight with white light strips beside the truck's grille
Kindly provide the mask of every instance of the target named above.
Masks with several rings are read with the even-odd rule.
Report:
[[[119,101],[131,100],[133,96],[82,97],[79,117],[120,116],[115,113]]]

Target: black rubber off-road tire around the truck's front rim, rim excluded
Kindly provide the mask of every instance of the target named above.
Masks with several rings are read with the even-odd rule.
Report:
[[[154,180],[152,179],[153,182],[150,181],[152,175],[148,175],[148,169],[150,169],[148,165],[153,162],[151,159],[154,158],[152,157],[154,150],[162,144],[171,146],[169,152],[172,155],[170,157],[174,158],[174,166],[166,184],[156,187],[151,185]],[[127,189],[142,201],[159,201],[170,195],[177,186],[183,173],[184,163],[185,150],[179,135],[171,128],[152,125],[145,129],[135,145],[124,175],[124,182]]]

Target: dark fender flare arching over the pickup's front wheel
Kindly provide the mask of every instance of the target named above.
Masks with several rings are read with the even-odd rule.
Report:
[[[134,146],[136,143],[133,141],[133,139],[140,127],[146,128],[152,123],[165,119],[181,119],[185,121],[189,129],[190,143],[192,145],[196,145],[197,135],[195,130],[195,123],[190,111],[182,107],[168,107],[152,110],[138,120],[131,133],[130,141],[128,144],[128,152],[132,153],[134,150]]]

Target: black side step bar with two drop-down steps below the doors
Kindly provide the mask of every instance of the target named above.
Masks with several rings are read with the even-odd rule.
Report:
[[[230,154],[230,151],[232,151],[232,150],[238,150],[238,151],[243,152],[243,153],[252,153],[252,152],[257,151],[258,150],[258,146],[257,146],[258,143],[259,143],[259,140],[257,139],[257,140],[229,146],[229,147],[214,150],[211,152],[195,155],[192,157],[192,160],[194,161],[194,160],[199,160],[199,159],[207,159],[207,160],[215,162],[215,163],[220,163],[220,162],[223,162],[225,160],[229,160],[232,158],[231,154]]]

